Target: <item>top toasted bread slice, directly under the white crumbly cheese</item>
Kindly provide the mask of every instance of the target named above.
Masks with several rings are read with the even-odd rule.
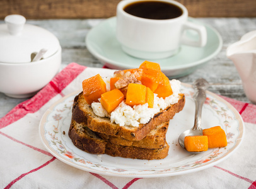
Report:
[[[81,92],[74,98],[72,119],[78,123],[84,124],[95,132],[123,137],[127,140],[141,140],[149,134],[151,130],[155,129],[157,125],[172,119],[175,113],[183,109],[184,105],[185,96],[180,94],[178,103],[170,105],[165,110],[156,113],[148,123],[139,124],[139,127],[120,126],[111,123],[110,118],[102,118],[95,115],[91,106],[84,100],[83,92]]]

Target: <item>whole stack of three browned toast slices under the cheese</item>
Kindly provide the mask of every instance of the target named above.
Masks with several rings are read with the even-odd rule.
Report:
[[[120,126],[110,118],[98,117],[93,112],[83,92],[74,98],[69,137],[74,146],[91,154],[132,159],[163,159],[168,155],[166,132],[169,120],[185,105],[185,96],[165,110],[156,113],[148,123],[139,127]]]

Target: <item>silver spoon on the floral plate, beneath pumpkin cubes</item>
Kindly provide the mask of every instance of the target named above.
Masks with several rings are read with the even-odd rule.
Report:
[[[201,129],[201,116],[202,116],[202,105],[204,105],[204,101],[206,101],[206,89],[209,87],[209,83],[206,79],[197,79],[193,83],[193,88],[195,89],[194,93],[194,101],[195,101],[195,122],[194,127],[189,130],[185,130],[180,137],[178,137],[178,143],[180,146],[185,149],[184,139],[186,136],[193,136],[193,135],[202,135]],[[198,154],[201,152],[192,152],[194,154]]]

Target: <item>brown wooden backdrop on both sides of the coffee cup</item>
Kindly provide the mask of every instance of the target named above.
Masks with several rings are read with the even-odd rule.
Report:
[[[27,19],[109,18],[115,16],[120,0],[1,0],[0,19],[21,14]],[[193,17],[253,17],[256,1],[252,0],[179,0]]]

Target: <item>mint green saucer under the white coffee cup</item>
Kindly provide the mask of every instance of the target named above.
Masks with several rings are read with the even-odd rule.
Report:
[[[196,22],[193,18],[189,21]],[[199,23],[204,25],[203,23]],[[125,54],[120,43],[115,37],[116,17],[108,18],[99,25],[92,28],[86,36],[86,47],[105,66],[112,69],[131,69],[139,67],[144,59],[137,59]],[[207,44],[204,47],[189,47],[182,45],[178,54],[166,59],[153,59],[149,61],[157,62],[161,66],[166,76],[182,77],[186,76],[212,59],[221,50],[223,41],[218,31],[208,25],[204,25],[207,30]],[[188,33],[190,37],[196,38],[193,33]]]

